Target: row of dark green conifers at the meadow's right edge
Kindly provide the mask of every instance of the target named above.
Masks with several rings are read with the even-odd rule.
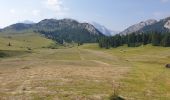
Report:
[[[170,33],[131,33],[127,35],[117,34],[112,37],[100,37],[97,42],[101,48],[116,48],[127,44],[128,47],[138,47],[152,44],[153,46],[170,47]]]

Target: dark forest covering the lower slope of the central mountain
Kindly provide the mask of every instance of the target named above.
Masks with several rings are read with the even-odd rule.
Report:
[[[86,29],[69,29],[63,28],[55,31],[49,30],[36,30],[34,32],[41,33],[45,35],[47,38],[53,39],[60,44],[63,44],[63,40],[67,43],[71,43],[72,41],[83,44],[83,43],[96,43],[98,36],[95,34],[91,34]]]

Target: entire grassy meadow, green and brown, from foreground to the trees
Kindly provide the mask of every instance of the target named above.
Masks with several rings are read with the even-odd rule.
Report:
[[[109,100],[115,88],[127,100],[170,99],[170,48],[53,44],[0,33],[0,100]]]

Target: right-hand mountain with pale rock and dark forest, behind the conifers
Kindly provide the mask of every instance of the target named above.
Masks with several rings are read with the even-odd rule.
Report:
[[[134,32],[170,32],[170,17],[165,19],[161,19],[160,21],[150,19],[147,21],[142,21],[138,24],[132,25],[125,29],[124,31],[120,32],[121,35],[131,34]]]

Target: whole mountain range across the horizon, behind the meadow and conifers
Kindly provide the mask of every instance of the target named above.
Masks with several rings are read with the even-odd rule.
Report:
[[[112,36],[115,34],[131,34],[141,32],[170,32],[170,17],[157,21],[150,19],[134,24],[124,31],[118,33],[107,29],[105,26],[96,22],[92,24],[80,23],[73,19],[44,19],[38,23],[32,21],[23,21],[0,29],[1,32],[39,32],[48,38],[59,41],[75,42],[95,42],[100,36]]]

